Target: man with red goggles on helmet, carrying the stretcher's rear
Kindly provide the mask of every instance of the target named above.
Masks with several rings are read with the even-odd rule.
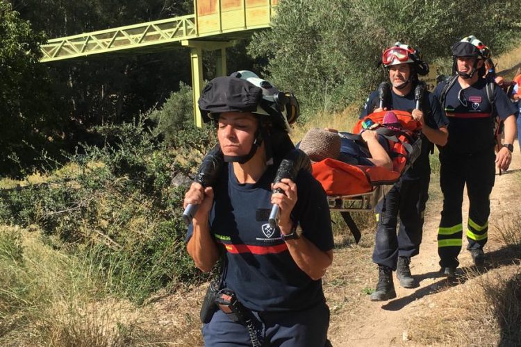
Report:
[[[422,123],[423,135],[419,157],[375,208],[378,226],[372,260],[378,264],[379,281],[371,295],[372,301],[396,297],[393,270],[397,271],[402,287],[415,287],[409,263],[411,257],[419,253],[422,242],[423,214],[429,198],[431,174],[429,152],[433,144],[443,146],[447,142],[448,124],[440,103],[431,93],[425,91],[420,99],[420,108],[416,107],[415,87],[420,83],[418,75],[429,73],[429,65],[422,60],[420,51],[396,42],[383,52],[381,62],[388,71],[392,87],[386,97],[381,97],[383,93],[379,91],[372,92],[360,118],[381,110],[408,111]],[[400,226],[397,233],[398,218]]]

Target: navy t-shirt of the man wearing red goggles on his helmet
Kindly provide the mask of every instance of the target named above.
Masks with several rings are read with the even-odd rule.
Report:
[[[386,104],[389,110],[401,110],[406,112],[413,112],[416,108],[416,101],[414,99],[414,89],[406,96],[395,94],[391,90],[390,104]],[[364,108],[360,114],[360,119],[372,113],[374,109],[378,108],[378,92],[372,92],[365,101]],[[430,92],[424,92],[423,100],[421,102],[422,111],[424,113],[424,122],[433,129],[439,129],[447,126],[449,120],[443,114],[442,108],[438,99]],[[422,176],[429,176],[431,173],[431,166],[429,163],[429,152],[433,144],[422,135],[422,153],[415,160],[410,169],[403,175],[404,178],[420,178]]]

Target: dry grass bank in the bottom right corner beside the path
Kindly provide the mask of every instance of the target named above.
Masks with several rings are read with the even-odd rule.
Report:
[[[468,271],[465,284],[438,295],[408,325],[421,346],[520,346],[521,269],[505,266],[480,274]]]

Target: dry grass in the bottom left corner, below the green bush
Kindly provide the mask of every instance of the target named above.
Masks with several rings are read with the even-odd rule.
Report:
[[[110,296],[109,280],[38,232],[0,226],[0,346],[202,346],[205,285],[136,307]]]

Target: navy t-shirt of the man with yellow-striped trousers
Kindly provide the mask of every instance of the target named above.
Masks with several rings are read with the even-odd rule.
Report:
[[[444,85],[440,83],[434,90],[436,98],[439,98]],[[505,92],[497,86],[494,88],[494,103],[501,119],[516,112]],[[495,119],[490,117],[492,105],[488,101],[485,78],[479,78],[463,90],[456,81],[445,96],[445,112],[450,122],[449,141],[444,151],[470,154],[493,148]]]

